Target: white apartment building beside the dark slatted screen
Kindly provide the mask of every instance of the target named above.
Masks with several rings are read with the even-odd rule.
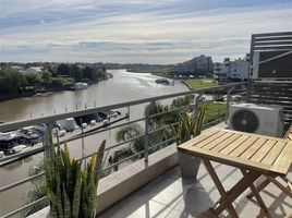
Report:
[[[250,72],[250,62],[246,59],[231,61],[226,58],[222,63],[214,66],[215,78],[219,82],[246,81]]]

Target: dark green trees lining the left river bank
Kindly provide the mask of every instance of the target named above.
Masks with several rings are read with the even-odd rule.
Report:
[[[106,78],[106,69],[81,68],[61,63],[45,66],[41,72],[21,72],[10,65],[0,65],[0,96],[17,96],[53,89],[69,89],[75,82],[97,83]]]

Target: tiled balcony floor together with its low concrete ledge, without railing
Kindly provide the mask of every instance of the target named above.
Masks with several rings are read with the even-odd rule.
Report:
[[[220,124],[220,126],[224,125]],[[98,190],[98,204],[100,207],[109,207],[97,217],[187,218],[195,217],[214,206],[220,198],[220,194],[205,166],[200,165],[197,181],[182,179],[175,149],[175,146],[170,146],[150,155],[149,166],[147,167],[143,160],[139,160],[102,179]],[[229,190],[242,177],[240,170],[233,167],[217,162],[212,162],[212,165],[226,190]],[[148,172],[142,172],[146,168],[153,169]],[[159,172],[162,173],[159,174]],[[147,178],[155,179],[138,187],[145,183]],[[292,178],[292,170],[289,172],[289,178]],[[129,195],[130,190],[133,189],[137,190]],[[247,193],[241,195],[233,204],[241,218],[259,215],[257,202],[254,198],[247,199]],[[275,185],[268,185],[260,195],[271,217],[280,218],[291,214],[291,198]],[[119,198],[120,201],[115,204],[109,203]],[[107,205],[108,203],[110,205]],[[48,208],[29,218],[46,217],[47,214]]]

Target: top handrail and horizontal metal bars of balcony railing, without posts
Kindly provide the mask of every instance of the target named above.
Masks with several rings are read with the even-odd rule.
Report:
[[[183,93],[177,93],[177,94],[170,94],[170,95],[165,95],[165,96],[158,96],[158,97],[153,97],[153,98],[146,98],[146,99],[141,99],[141,100],[134,100],[134,101],[129,101],[129,102],[123,102],[123,104],[117,104],[117,105],[112,105],[112,106],[105,106],[105,107],[98,107],[98,108],[90,108],[90,109],[86,109],[86,110],[80,110],[80,111],[74,111],[74,112],[68,112],[68,113],[61,113],[61,114],[57,114],[57,116],[49,116],[49,117],[42,117],[42,118],[37,118],[37,119],[31,119],[31,120],[23,120],[23,121],[16,121],[16,122],[9,122],[9,123],[2,123],[0,124],[0,132],[4,132],[4,131],[9,131],[9,130],[12,130],[12,129],[19,129],[19,128],[23,128],[23,126],[27,126],[27,125],[33,125],[33,124],[36,124],[36,123],[51,123],[53,121],[57,121],[57,120],[62,120],[62,119],[66,119],[66,118],[71,118],[71,117],[78,117],[78,116],[82,116],[82,114],[88,114],[88,113],[95,113],[95,112],[99,112],[99,111],[105,111],[105,110],[110,110],[110,109],[118,109],[118,108],[123,108],[123,107],[130,107],[130,106],[134,106],[134,105],[141,105],[141,104],[145,104],[145,102],[154,102],[154,101],[157,101],[157,100],[161,100],[161,99],[166,99],[166,98],[173,98],[173,97],[178,97],[178,96],[185,96],[185,95],[191,95],[191,94],[199,94],[199,96],[202,94],[204,94],[204,92],[206,90],[215,90],[215,89],[227,89],[227,88],[230,88],[230,87],[236,87],[236,86],[242,86],[242,85],[245,85],[247,84],[246,82],[245,83],[236,83],[236,84],[229,84],[229,85],[224,85],[224,86],[219,86],[219,87],[215,87],[215,88],[204,88],[204,89],[198,89],[198,90],[191,90],[191,92],[183,92]],[[198,101],[196,101],[197,104]],[[84,133],[84,134],[80,134],[80,135],[76,135],[76,136],[73,136],[71,138],[69,138],[66,142],[70,142],[70,141],[74,141],[74,140],[78,140],[81,137],[86,137],[86,136],[89,136],[89,135],[93,135],[93,134],[98,134],[98,133],[101,133],[101,132],[105,132],[105,131],[109,131],[109,130],[113,130],[113,129],[117,129],[117,128],[121,128],[121,126],[124,126],[124,125],[127,125],[127,124],[131,124],[131,123],[135,123],[135,122],[139,122],[139,121],[145,121],[145,120],[150,120],[150,119],[154,119],[156,117],[159,117],[159,116],[162,116],[162,114],[166,114],[166,113],[170,113],[170,112],[173,112],[173,111],[179,111],[179,110],[184,110],[184,109],[187,109],[187,108],[194,108],[196,107],[196,105],[190,105],[190,106],[184,106],[184,107],[179,107],[179,108],[175,108],[175,109],[171,109],[171,110],[168,110],[168,111],[162,111],[160,113],[156,113],[156,114],[151,114],[151,116],[145,116],[141,119],[136,119],[136,120],[133,120],[133,121],[129,121],[126,123],[122,123],[122,124],[117,124],[117,125],[113,125],[113,126],[109,126],[107,129],[104,129],[104,130],[98,130],[98,131],[93,131],[93,132],[89,132],[89,133]],[[226,107],[222,107],[220,109],[217,109],[217,110],[211,110],[211,111],[208,111],[207,113],[212,113],[212,112],[216,112],[216,111],[221,111],[222,109],[226,109]],[[215,123],[215,122],[218,122],[218,120],[221,120],[222,118],[219,118],[217,120],[214,120],[211,121],[210,123]],[[204,126],[207,126],[209,125],[210,123],[205,123]],[[177,123],[173,123],[172,125],[175,125],[178,124]],[[155,130],[148,130],[145,132],[145,134],[142,134],[142,135],[138,135],[138,136],[135,136],[135,137],[132,137],[127,141],[123,141],[121,143],[118,143],[115,145],[112,145],[110,147],[107,147],[106,150],[110,150],[112,148],[115,148],[115,147],[119,147],[121,145],[124,145],[124,144],[127,144],[134,140],[137,140],[139,137],[147,137],[149,134],[151,133],[155,133],[155,132],[158,132],[158,131],[161,131],[166,128],[169,128],[169,125],[165,125],[165,126],[160,126],[159,129],[155,129]],[[145,161],[146,161],[146,156],[148,156],[148,152],[154,149],[155,147],[158,147],[158,146],[161,146],[163,144],[168,144],[172,141],[174,141],[175,138],[174,137],[171,137],[171,138],[168,138],[166,140],[165,142],[161,142],[161,143],[158,143],[156,145],[151,145],[151,146],[147,146],[145,147],[144,150],[139,152],[139,153],[136,153],[130,157],[126,157],[109,167],[106,167],[102,169],[102,171],[107,171],[109,169],[112,169],[114,168],[115,166],[119,166],[130,159],[133,159],[137,156],[141,156],[142,154],[145,154]],[[61,142],[63,143],[63,142]],[[96,153],[93,153],[90,155],[87,155],[87,156],[84,156],[83,158],[78,158],[78,160],[81,159],[86,159],[93,155],[95,155]],[[35,175],[32,175],[32,177],[28,177],[26,179],[23,179],[21,181],[17,181],[17,182],[14,182],[12,184],[9,184],[7,186],[3,186],[3,187],[0,187],[0,194],[4,191],[8,191],[8,190],[11,190],[15,186],[19,186],[21,184],[24,184],[26,182],[29,182],[34,179],[37,179],[39,177],[44,177],[45,175],[45,172],[39,172],[38,174],[35,174]],[[41,201],[45,201],[46,197],[42,197],[40,199],[37,199],[36,202],[33,202],[33,203],[29,203],[28,205],[25,205],[16,210],[13,210],[11,211],[10,214],[7,214],[4,217],[11,217],[15,214],[19,214],[20,211],[23,211],[36,204],[39,204]]]

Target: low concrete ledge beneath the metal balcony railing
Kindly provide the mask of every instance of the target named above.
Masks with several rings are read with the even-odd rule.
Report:
[[[178,164],[177,145],[173,144],[149,155],[148,164],[142,159],[101,179],[97,189],[97,214],[111,207]],[[48,217],[48,214],[49,207],[29,218]]]

